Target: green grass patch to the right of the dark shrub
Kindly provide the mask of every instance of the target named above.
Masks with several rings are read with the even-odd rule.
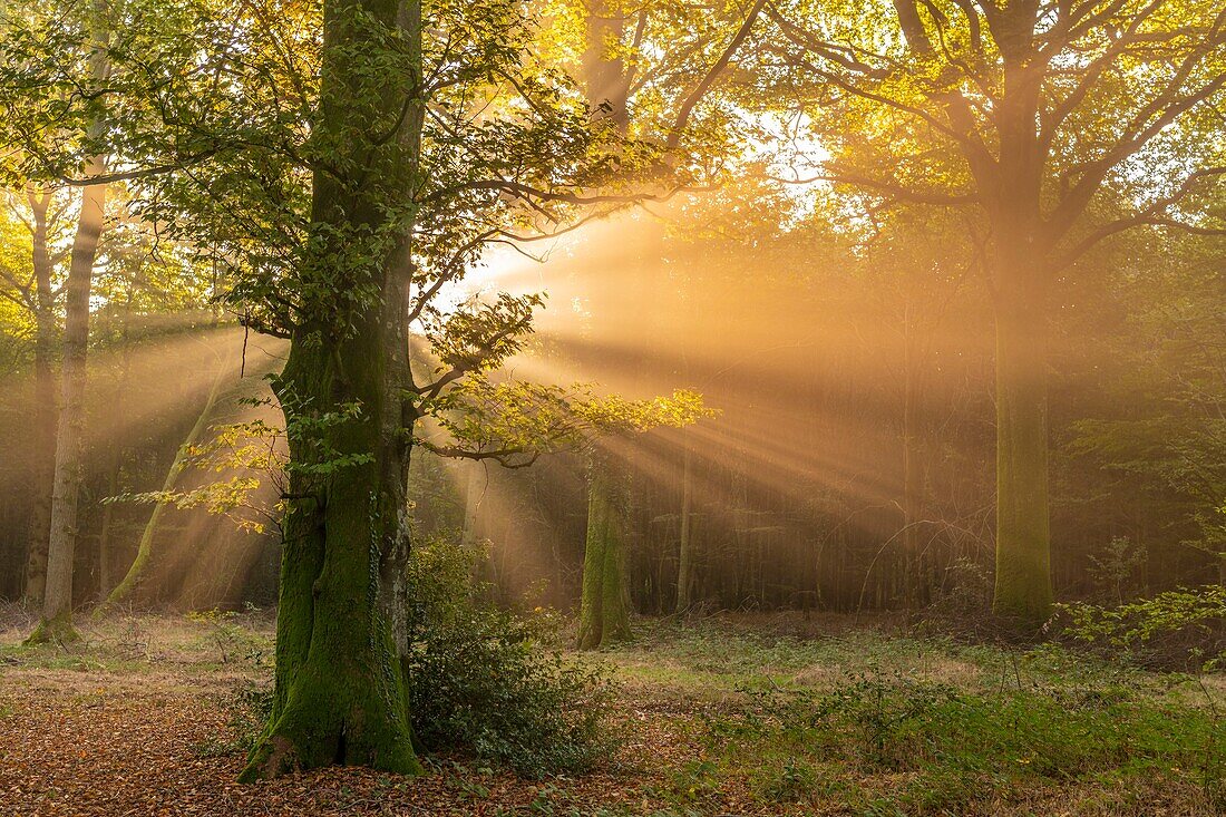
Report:
[[[678,772],[678,806],[745,785],[858,815],[1226,810],[1217,680],[896,629],[640,632],[604,654],[631,688],[722,700],[687,724],[701,756]]]

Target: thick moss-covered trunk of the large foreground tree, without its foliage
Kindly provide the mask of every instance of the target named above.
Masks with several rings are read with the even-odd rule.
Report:
[[[275,382],[292,464],[276,691],[243,780],[327,764],[422,770],[402,662],[416,415],[406,401],[412,212],[397,210],[413,189],[421,145],[419,32],[417,2],[325,4],[313,139],[327,164],[346,172],[315,173],[306,275],[329,296],[308,302]],[[389,42],[403,50],[389,53]],[[376,70],[389,64],[407,65],[407,75]],[[337,321],[327,298],[345,293],[359,297],[342,302]]]

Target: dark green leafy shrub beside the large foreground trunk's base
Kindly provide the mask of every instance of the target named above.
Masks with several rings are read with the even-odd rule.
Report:
[[[414,545],[408,696],[417,738],[525,777],[576,772],[607,754],[604,676],[544,648],[533,622],[494,608],[473,583],[481,552]]]

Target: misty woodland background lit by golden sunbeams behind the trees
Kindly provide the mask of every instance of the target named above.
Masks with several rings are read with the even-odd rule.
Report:
[[[70,196],[56,199],[64,224]],[[5,204],[2,253],[20,269],[28,204],[20,193]],[[674,608],[687,503],[691,599],[710,610],[988,602],[993,340],[981,271],[958,224],[939,216],[885,212],[848,227],[839,207],[758,180],[600,222],[541,261],[494,254],[468,282],[548,293],[537,339],[510,367],[517,374],[630,396],[693,386],[720,412],[618,442],[633,470],[628,572],[640,612]],[[1226,254],[1215,240],[1135,231],[1058,283],[1058,599],[1118,601],[1222,579]],[[150,518],[147,504],[104,499],[162,485],[218,372],[210,424],[246,416],[242,397],[266,391],[261,377],[283,355],[211,308],[215,274],[140,226],[104,234],[78,602],[119,581]],[[0,596],[18,600],[37,507],[33,429],[48,407],[33,390],[32,315],[20,292],[5,296]],[[584,474],[568,454],[511,471],[422,454],[418,531],[488,541],[500,597],[569,608]],[[276,536],[169,509],[132,601],[268,606],[277,563]]]

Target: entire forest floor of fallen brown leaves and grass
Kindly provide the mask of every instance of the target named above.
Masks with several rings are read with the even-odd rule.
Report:
[[[603,662],[620,748],[525,780],[433,757],[406,779],[332,768],[239,785],[259,615],[118,616],[70,648],[0,618],[0,815],[1226,813],[1226,681],[889,622],[640,622]]]

